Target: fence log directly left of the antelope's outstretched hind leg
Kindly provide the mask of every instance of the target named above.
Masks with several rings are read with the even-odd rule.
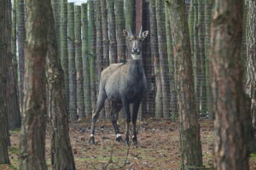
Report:
[[[83,56],[83,75],[84,75],[84,105],[85,116],[91,115],[90,100],[90,55],[89,55],[89,22],[88,22],[88,6],[82,3],[82,56]]]

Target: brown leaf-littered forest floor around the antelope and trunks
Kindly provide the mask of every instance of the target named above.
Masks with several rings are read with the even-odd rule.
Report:
[[[125,122],[119,123],[121,132]],[[96,144],[88,144],[90,122],[70,123],[70,138],[75,163],[78,170],[127,169],[127,170],[177,170],[180,164],[178,123],[168,120],[150,119],[137,123],[138,146],[130,147],[115,141],[110,121],[96,123]],[[212,167],[212,121],[201,121],[201,144],[203,163]],[[124,138],[124,134],[122,134]],[[11,132],[9,156],[11,167],[0,169],[19,169],[20,132]],[[50,168],[49,133],[46,139],[46,161]],[[256,170],[256,157],[250,157],[250,169]],[[207,169],[206,168],[206,169]]]

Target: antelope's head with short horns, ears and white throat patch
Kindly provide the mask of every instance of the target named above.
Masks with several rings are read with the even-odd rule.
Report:
[[[133,35],[131,31],[124,30],[123,32],[129,42],[128,48],[131,52],[131,58],[142,59],[143,40],[148,36],[148,31],[143,31],[143,27],[141,27],[138,35]]]

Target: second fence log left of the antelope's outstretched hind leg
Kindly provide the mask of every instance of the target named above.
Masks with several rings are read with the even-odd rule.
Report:
[[[75,48],[77,70],[77,101],[79,121],[84,121],[84,77],[81,41],[81,6],[75,6]]]

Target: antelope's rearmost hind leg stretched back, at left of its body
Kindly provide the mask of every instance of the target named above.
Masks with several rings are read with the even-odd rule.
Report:
[[[89,139],[90,144],[95,144],[95,139],[94,139],[95,125],[96,125],[97,118],[100,115],[100,111],[102,111],[102,108],[104,106],[106,99],[107,99],[107,95],[105,94],[105,92],[103,92],[103,90],[100,90],[98,99],[97,99],[96,110],[94,111],[94,113],[92,115],[92,122],[91,122],[91,128],[90,128],[90,139]]]

